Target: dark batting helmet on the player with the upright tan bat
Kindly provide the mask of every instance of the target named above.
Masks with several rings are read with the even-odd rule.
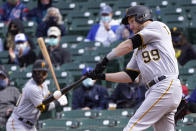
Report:
[[[48,64],[44,60],[36,60],[33,64],[33,71],[48,71]]]

